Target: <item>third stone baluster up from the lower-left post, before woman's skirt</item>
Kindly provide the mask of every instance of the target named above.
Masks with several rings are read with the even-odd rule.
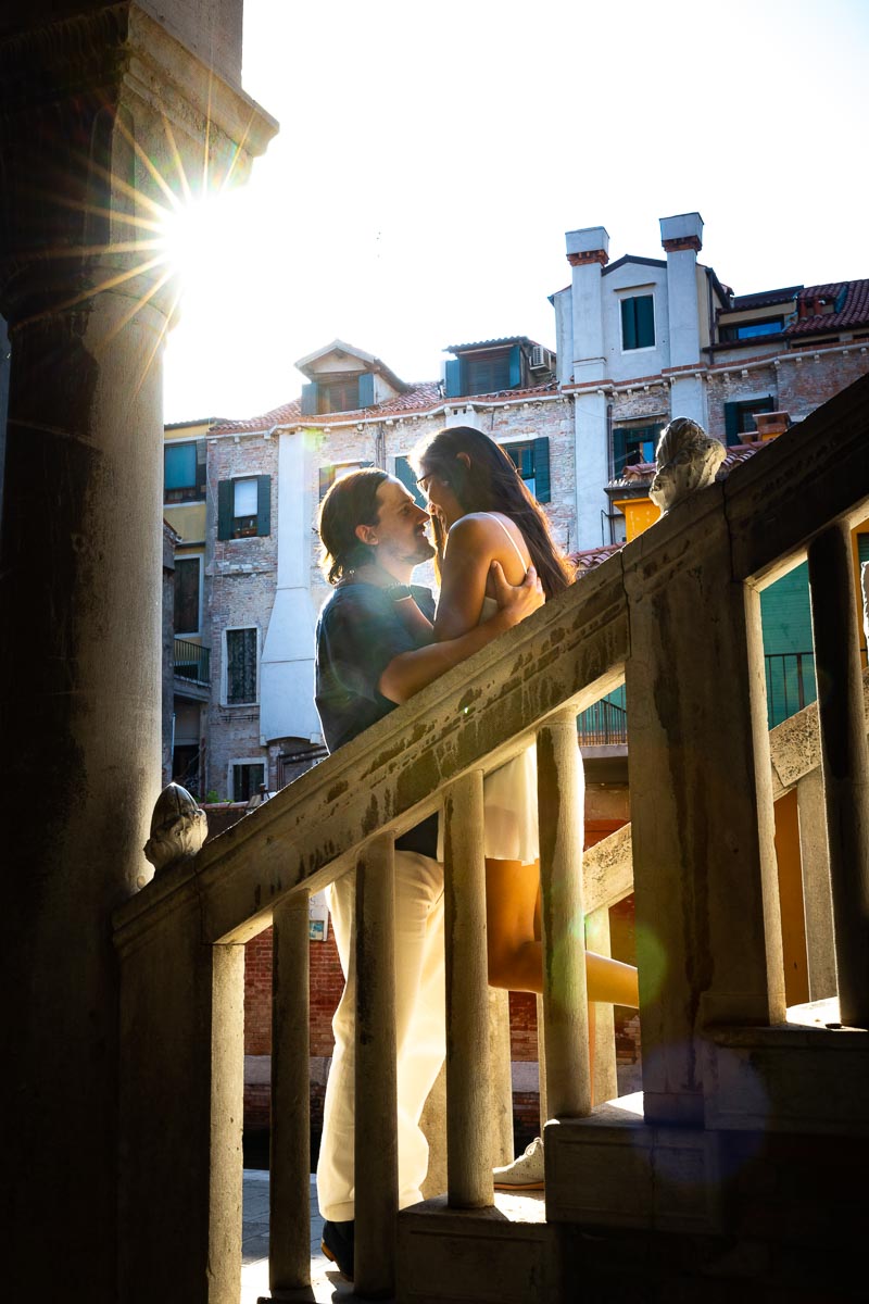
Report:
[[[444,798],[444,892],[447,1192],[453,1208],[481,1209],[494,1201],[482,771]]]

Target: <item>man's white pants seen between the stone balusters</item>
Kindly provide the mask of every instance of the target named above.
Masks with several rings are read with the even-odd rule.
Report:
[[[356,874],[327,889],[344,992],[335,1011],[335,1052],[326,1086],[317,1166],[321,1215],[354,1217]],[[399,1098],[399,1208],[422,1200],[429,1144],[420,1115],[446,1054],[443,865],[417,852],[395,853],[395,974]]]

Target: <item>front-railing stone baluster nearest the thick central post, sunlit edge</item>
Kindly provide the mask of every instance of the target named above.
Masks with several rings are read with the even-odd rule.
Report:
[[[552,1118],[591,1112],[582,926],[582,759],[576,712],[537,735],[546,1091]]]

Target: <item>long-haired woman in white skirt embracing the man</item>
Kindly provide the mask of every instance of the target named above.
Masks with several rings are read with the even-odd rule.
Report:
[[[496,610],[491,563],[511,584],[534,565],[547,599],[572,574],[542,510],[499,445],[473,426],[442,430],[413,454],[433,516],[440,597],[438,640],[453,639]],[[483,784],[489,982],[509,991],[543,990],[535,928],[539,891],[537,762],[533,747]],[[589,1000],[638,1005],[632,965],[586,952]]]

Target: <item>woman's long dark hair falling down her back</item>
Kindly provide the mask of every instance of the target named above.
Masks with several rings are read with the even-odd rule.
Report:
[[[410,462],[420,477],[436,476],[448,484],[465,511],[499,511],[509,516],[522,532],[547,597],[573,583],[569,562],[555,546],[542,509],[500,445],[482,430],[473,425],[439,430],[427,443],[417,445]],[[439,570],[446,539],[438,516],[434,518],[434,539]]]

